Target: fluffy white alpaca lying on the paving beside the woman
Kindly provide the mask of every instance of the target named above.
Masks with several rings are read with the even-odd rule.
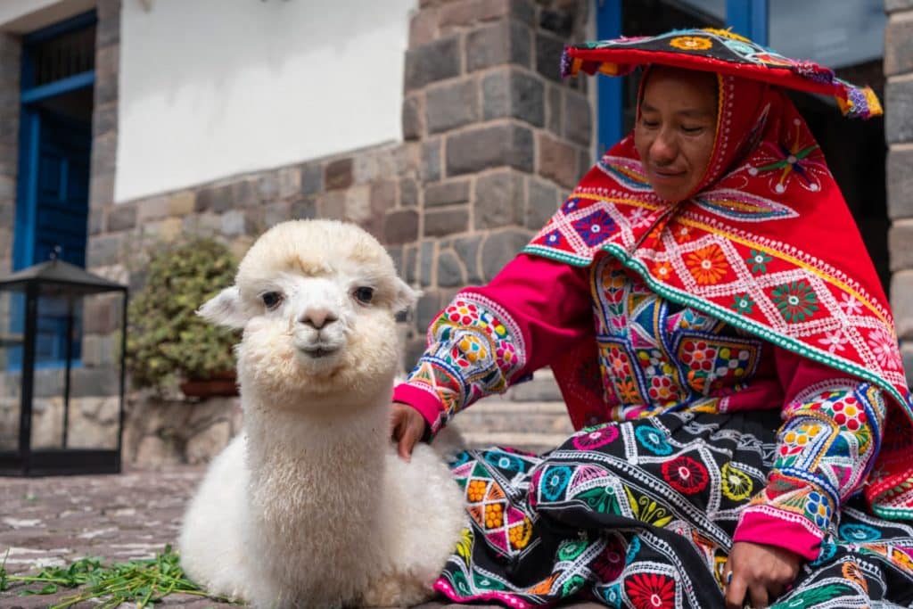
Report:
[[[429,446],[389,439],[394,312],[415,300],[360,228],[291,221],[261,236],[200,314],[243,328],[245,430],[184,515],[184,570],[257,607],[425,601],[464,526]]]

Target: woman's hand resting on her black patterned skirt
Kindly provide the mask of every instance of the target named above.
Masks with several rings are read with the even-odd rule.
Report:
[[[736,541],[724,573],[732,573],[726,586],[727,609],[766,607],[783,593],[799,574],[802,556],[795,552],[750,541]]]

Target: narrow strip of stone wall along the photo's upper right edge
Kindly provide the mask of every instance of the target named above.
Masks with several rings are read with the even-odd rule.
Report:
[[[886,0],[885,133],[891,306],[913,385],[913,0]]]

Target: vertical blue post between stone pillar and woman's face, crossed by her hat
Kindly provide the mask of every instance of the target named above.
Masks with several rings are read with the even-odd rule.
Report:
[[[600,40],[622,36],[622,0],[598,0],[596,37]],[[622,139],[624,129],[624,80],[600,75],[596,79],[596,158]]]

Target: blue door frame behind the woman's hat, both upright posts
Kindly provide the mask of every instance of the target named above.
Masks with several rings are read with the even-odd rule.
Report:
[[[622,0],[595,0],[596,38],[606,40],[624,35]],[[759,45],[768,40],[769,0],[726,0],[726,25],[732,31],[749,37]],[[628,34],[632,34],[629,32]],[[636,32],[633,32],[636,34]],[[624,136],[622,79],[596,79],[598,99],[596,137],[597,153],[602,154]]]

